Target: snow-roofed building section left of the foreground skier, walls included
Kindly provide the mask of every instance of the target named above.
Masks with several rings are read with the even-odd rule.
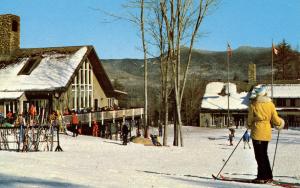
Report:
[[[247,91],[237,92],[235,83],[208,83],[201,103],[200,126],[243,126],[247,118],[249,97]]]

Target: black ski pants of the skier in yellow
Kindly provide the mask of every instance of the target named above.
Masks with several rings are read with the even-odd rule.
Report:
[[[268,157],[268,141],[253,140],[255,159],[257,162],[257,179],[273,179],[273,174]]]

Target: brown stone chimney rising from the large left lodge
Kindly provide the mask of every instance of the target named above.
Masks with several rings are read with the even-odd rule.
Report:
[[[0,56],[9,57],[20,48],[20,17],[0,15]]]

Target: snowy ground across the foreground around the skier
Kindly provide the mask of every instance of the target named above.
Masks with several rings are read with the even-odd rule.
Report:
[[[184,147],[143,146],[90,136],[62,135],[64,152],[0,151],[0,187],[257,187],[219,182],[217,174],[234,147],[228,129],[184,127]],[[236,131],[235,143],[244,129]],[[172,129],[170,128],[170,135]],[[213,139],[209,139],[213,138]],[[277,131],[269,145],[271,163]],[[252,146],[252,143],[251,143]],[[300,182],[300,130],[280,134],[274,179]],[[241,143],[222,171],[227,176],[255,178],[253,149]],[[259,185],[259,187],[272,187]]]

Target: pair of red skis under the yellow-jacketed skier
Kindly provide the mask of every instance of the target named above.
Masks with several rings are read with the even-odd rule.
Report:
[[[217,177],[213,174],[212,174],[212,177],[214,180],[220,180],[220,181],[231,181],[231,182],[253,183],[253,184],[267,184],[267,185],[279,186],[279,187],[285,187],[285,188],[300,188],[300,183],[283,182],[283,181],[279,181],[279,180],[273,180],[271,182],[259,182],[259,181],[255,181],[253,179],[231,178],[231,177],[225,177],[223,175],[220,175],[220,177]]]

